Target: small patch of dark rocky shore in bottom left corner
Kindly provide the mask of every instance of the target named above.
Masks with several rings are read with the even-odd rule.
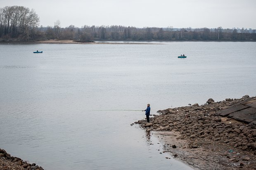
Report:
[[[44,170],[36,163],[29,163],[20,158],[11,156],[0,148],[0,170]]]

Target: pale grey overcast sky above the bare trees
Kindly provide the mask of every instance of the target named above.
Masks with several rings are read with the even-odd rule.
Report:
[[[40,25],[256,29],[256,0],[0,0],[34,9]]]

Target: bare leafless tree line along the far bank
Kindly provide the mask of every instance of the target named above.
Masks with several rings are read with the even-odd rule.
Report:
[[[60,21],[54,26],[39,27],[39,17],[32,9],[21,6],[0,8],[0,41],[256,41],[256,30],[240,28],[136,28],[131,26],[70,25],[62,28]]]

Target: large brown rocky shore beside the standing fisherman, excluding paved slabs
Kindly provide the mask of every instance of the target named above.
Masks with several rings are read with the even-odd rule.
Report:
[[[254,170],[256,169],[256,126],[235,119],[219,117],[216,112],[251,99],[225,99],[206,104],[197,103],[159,110],[150,122],[135,124],[164,142],[164,152],[170,152],[198,170]]]

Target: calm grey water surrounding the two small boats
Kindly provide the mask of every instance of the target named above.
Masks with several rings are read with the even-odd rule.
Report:
[[[255,96],[255,73],[256,42],[0,44],[0,148],[45,170],[190,169],[130,126],[145,112],[111,110]]]

